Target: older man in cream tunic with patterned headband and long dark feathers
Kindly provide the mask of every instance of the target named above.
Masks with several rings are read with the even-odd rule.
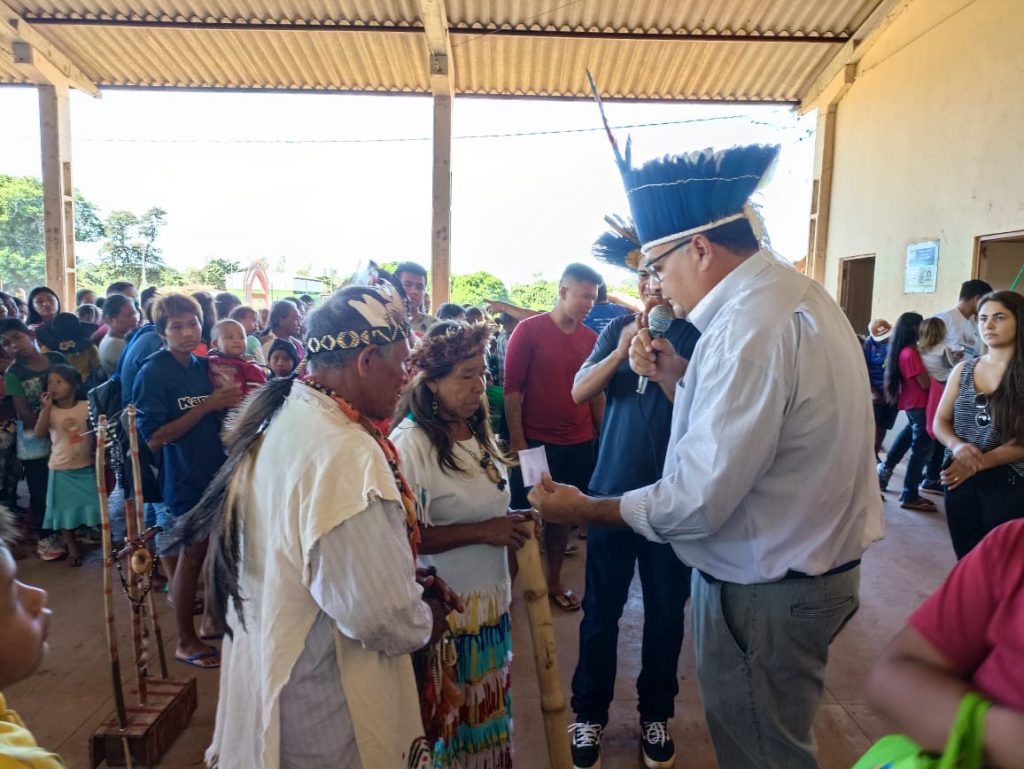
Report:
[[[213,528],[208,580],[231,631],[207,754],[220,769],[429,766],[410,652],[461,603],[418,584],[409,485],[371,423],[394,412],[410,334],[396,294],[331,297],[304,377],[246,402],[182,520],[186,541]]]

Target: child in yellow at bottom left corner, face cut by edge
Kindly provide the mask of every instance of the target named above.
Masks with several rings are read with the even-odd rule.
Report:
[[[46,591],[16,580],[9,550],[13,537],[10,514],[0,509],[0,766],[59,769],[65,766],[60,757],[36,744],[17,714],[7,710],[2,693],[39,667],[50,625]]]

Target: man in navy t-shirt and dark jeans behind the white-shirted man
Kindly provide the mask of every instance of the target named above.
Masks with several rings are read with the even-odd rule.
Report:
[[[605,233],[602,240],[613,238]],[[594,255],[615,263],[615,250],[599,248]],[[635,268],[625,256],[638,247],[622,244],[618,266]],[[634,255],[635,256],[635,255]],[[660,286],[638,273],[643,318],[663,303]],[[625,315],[612,319],[597,340],[594,351],[577,375],[572,398],[586,402],[605,396],[604,425],[597,465],[590,481],[595,496],[618,496],[653,483],[662,475],[672,427],[672,391],[650,383],[637,393],[639,378],[630,369],[629,349],[637,333],[638,318]],[[680,355],[688,358],[699,332],[688,322],[676,319],[666,338]],[[600,759],[601,731],[608,721],[608,706],[614,692],[615,649],[618,620],[629,595],[634,568],[639,561],[643,588],[644,630],[642,667],[637,679],[641,747],[647,766],[669,767],[675,761],[675,745],[668,721],[675,715],[679,692],[676,668],[683,644],[683,610],[690,594],[690,568],[671,545],[648,542],[629,528],[591,525],[587,529],[587,592],[580,626],[580,659],[572,677],[572,763],[580,769],[595,766]]]

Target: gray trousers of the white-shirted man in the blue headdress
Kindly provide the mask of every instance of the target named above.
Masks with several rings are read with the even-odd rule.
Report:
[[[860,567],[765,585],[693,570],[700,695],[722,769],[818,769],[812,726],[828,644],[859,606]]]

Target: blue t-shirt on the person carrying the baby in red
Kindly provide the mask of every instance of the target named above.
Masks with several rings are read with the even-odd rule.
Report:
[[[169,350],[151,355],[132,389],[138,409],[138,432],[148,442],[157,430],[184,416],[213,392],[210,365],[191,355],[182,366]],[[191,430],[161,452],[160,480],[164,504],[175,517],[193,508],[224,464],[220,413],[207,414]]]

